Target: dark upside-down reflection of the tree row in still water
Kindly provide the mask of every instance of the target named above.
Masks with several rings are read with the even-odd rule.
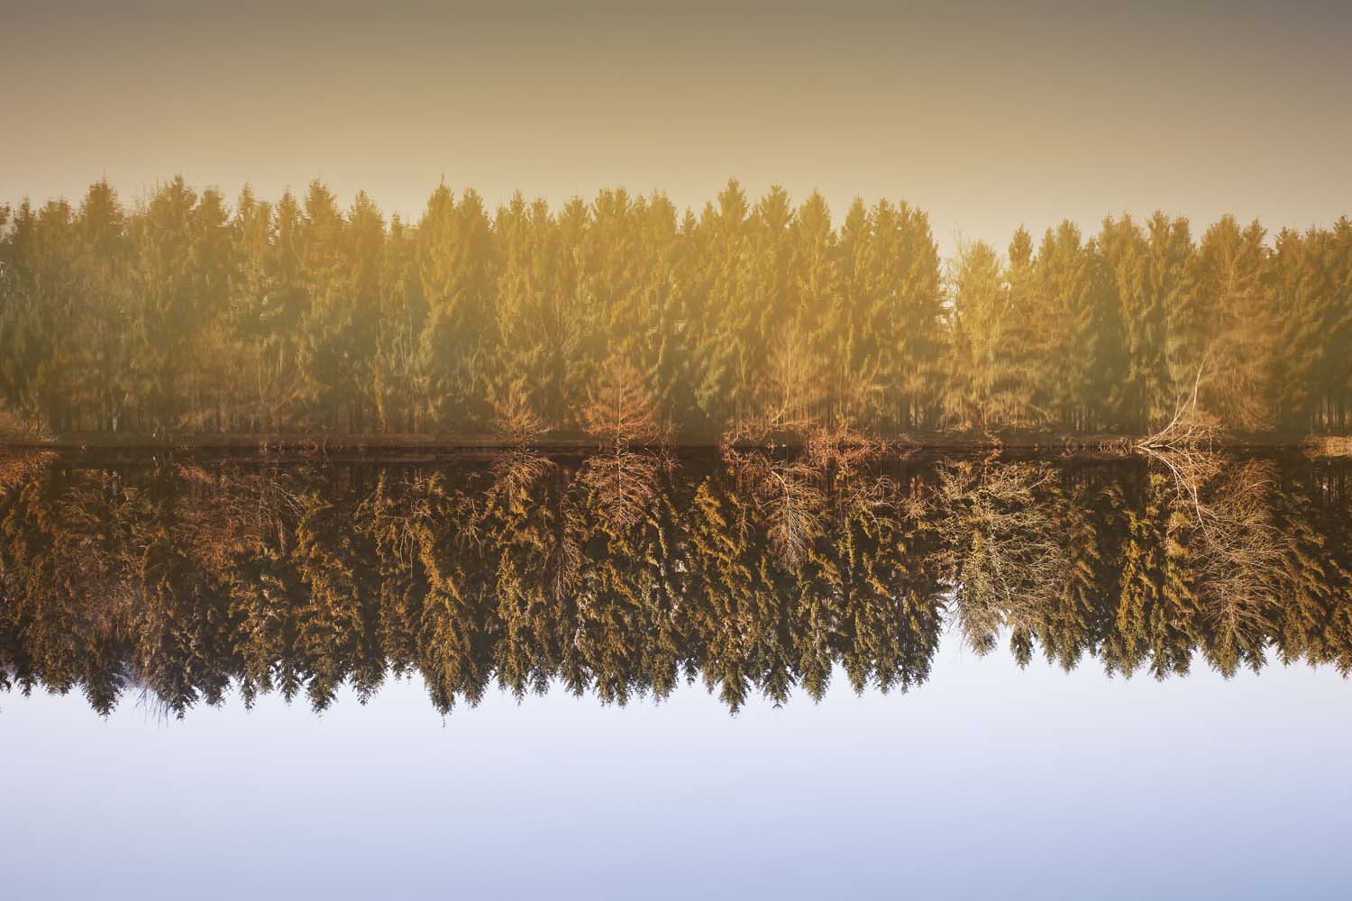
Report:
[[[181,715],[233,686],[323,708],[391,671],[441,711],[493,682],[622,704],[703,679],[737,709],[821,697],[837,666],[906,690],[945,623],[1065,669],[1352,669],[1345,467],[1169,453],[936,462],[841,432],[704,461],[45,454],[0,485],[0,681]]]

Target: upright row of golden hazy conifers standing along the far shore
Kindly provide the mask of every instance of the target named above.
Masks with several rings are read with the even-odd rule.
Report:
[[[0,432],[800,443],[1348,431],[1352,220],[1069,222],[940,258],[926,213],[735,181],[416,223],[322,182],[0,208]]]

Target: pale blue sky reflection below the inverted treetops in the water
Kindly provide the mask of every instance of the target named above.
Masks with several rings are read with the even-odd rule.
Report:
[[[161,723],[0,696],[7,898],[1324,898],[1347,893],[1348,682],[1028,670],[730,716],[420,682]]]

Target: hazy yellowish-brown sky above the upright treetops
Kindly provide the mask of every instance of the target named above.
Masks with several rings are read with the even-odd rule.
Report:
[[[945,249],[1352,212],[1347,3],[0,3],[8,201],[183,173],[700,207],[735,176],[910,200]]]

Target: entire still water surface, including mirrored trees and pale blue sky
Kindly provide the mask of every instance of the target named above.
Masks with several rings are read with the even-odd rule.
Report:
[[[1338,897],[1349,474],[11,459],[4,894]]]

